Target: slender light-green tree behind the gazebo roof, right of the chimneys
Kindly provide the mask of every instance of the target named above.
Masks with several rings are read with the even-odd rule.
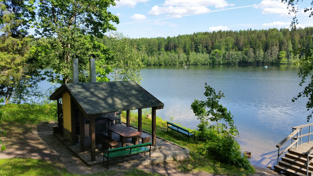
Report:
[[[121,33],[111,34],[111,53],[108,63],[114,70],[115,81],[133,80],[140,84],[140,70],[143,68],[142,56],[129,39]]]

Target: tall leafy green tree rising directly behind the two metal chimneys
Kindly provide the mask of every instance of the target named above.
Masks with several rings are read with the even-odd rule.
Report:
[[[119,23],[118,17],[107,11],[111,5],[115,5],[114,0],[38,1],[35,32],[48,40],[43,39],[41,43],[44,45],[36,46],[38,55],[53,69],[45,72],[50,82],[72,81],[70,56],[74,53],[79,56],[80,82],[89,80],[85,75],[89,68],[87,56],[93,53],[101,62],[108,53],[104,44],[94,40],[94,36],[102,37],[107,30],[116,30],[110,21]],[[99,71],[99,68],[102,65],[98,65],[98,80],[107,81],[105,74],[108,70]]]

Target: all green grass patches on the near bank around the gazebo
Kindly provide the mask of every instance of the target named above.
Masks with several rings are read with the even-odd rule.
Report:
[[[56,104],[9,104],[5,106],[4,111],[9,115],[8,119],[4,120],[4,123],[0,124],[0,129],[11,128],[27,129],[25,132],[20,132],[18,135],[23,135],[29,132],[29,126],[37,125],[39,122],[55,121]],[[145,117],[146,113],[143,113],[142,129],[151,132],[151,120]],[[122,121],[126,121],[125,112],[122,113]],[[138,125],[138,117],[136,113],[131,113],[131,125]],[[19,130],[20,131],[20,130]],[[18,132],[19,132],[18,131]],[[10,133],[8,133],[9,137]],[[172,161],[175,166],[184,172],[193,171],[205,171],[213,174],[225,174],[225,175],[252,175],[254,171],[244,170],[231,165],[219,163],[218,161],[203,155],[203,144],[201,142],[187,142],[187,137],[178,134],[177,132],[167,132],[167,123],[161,118],[157,117],[156,120],[156,135],[165,138],[169,141],[177,143],[185,148],[190,149],[190,159],[182,161]],[[3,136],[0,136],[0,138]],[[191,140],[192,141],[192,140]],[[68,173],[66,169],[60,163],[53,163],[49,161],[42,161],[30,158],[10,158],[0,160],[0,176],[2,175],[75,175]],[[130,168],[125,171],[102,171],[92,175],[127,175],[127,176],[158,176],[156,173],[149,173],[138,168]],[[91,176],[91,175],[88,175]]]

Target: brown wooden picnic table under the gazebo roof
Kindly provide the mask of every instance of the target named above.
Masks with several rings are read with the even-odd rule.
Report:
[[[109,138],[112,138],[112,132],[115,132],[116,134],[120,135],[122,147],[126,146],[127,138],[135,138],[134,145],[138,144],[138,135],[140,135],[141,132],[133,130],[131,127],[126,127],[122,124],[110,125],[105,127],[106,129],[108,129]]]

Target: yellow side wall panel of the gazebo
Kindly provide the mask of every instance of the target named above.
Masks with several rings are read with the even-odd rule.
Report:
[[[72,132],[71,126],[71,97],[65,92],[62,96],[63,101],[63,126],[65,129]]]

